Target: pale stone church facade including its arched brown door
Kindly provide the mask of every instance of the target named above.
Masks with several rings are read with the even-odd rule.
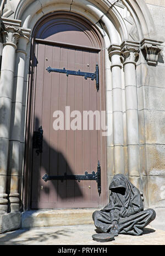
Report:
[[[117,173],[165,230],[164,1],[1,0],[0,8],[0,232],[19,228],[26,211],[102,208]],[[94,72],[96,63],[98,92],[95,81],[46,70]],[[54,131],[53,112],[65,106],[106,111],[108,136]],[[97,171],[98,160],[100,197],[96,181],[42,179]]]

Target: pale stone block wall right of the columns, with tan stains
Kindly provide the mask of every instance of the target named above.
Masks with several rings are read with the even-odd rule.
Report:
[[[157,41],[165,41],[165,2],[145,0],[155,23]],[[163,43],[164,45],[164,43]],[[140,55],[136,67],[140,135],[140,167],[144,194],[149,207],[154,208],[157,218],[151,225],[164,229],[165,215],[165,51],[162,49],[157,66],[146,63]]]

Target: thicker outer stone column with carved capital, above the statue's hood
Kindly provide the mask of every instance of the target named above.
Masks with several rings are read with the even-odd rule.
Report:
[[[140,176],[139,170],[139,122],[136,86],[136,61],[139,43],[124,41],[121,45],[125,80],[125,107],[127,116],[128,174]],[[138,179],[136,181],[138,187]],[[134,182],[134,183],[135,183]]]

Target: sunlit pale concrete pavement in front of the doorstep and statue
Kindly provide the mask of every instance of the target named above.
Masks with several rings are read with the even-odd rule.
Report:
[[[165,231],[147,226],[142,236],[119,235],[111,242],[92,239],[95,226],[73,225],[36,227],[0,234],[0,245],[165,245]]]

